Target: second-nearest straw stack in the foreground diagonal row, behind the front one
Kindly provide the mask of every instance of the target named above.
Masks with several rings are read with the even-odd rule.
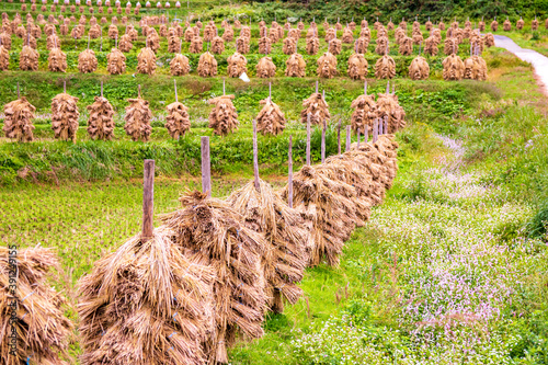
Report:
[[[264,333],[261,324],[267,297],[261,256],[266,242],[220,199],[195,192],[180,201],[184,208],[162,220],[175,231],[174,243],[192,262],[217,274],[213,284],[216,326],[206,349],[213,357],[210,364],[228,363],[226,349],[238,333],[251,339]]]

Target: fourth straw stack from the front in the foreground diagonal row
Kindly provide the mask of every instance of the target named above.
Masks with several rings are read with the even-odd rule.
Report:
[[[282,196],[287,199],[287,195],[285,187]],[[350,238],[355,225],[365,224],[356,212],[367,207],[357,201],[355,189],[305,166],[294,175],[293,202],[297,210],[312,217],[315,246],[309,265],[317,266],[322,261],[338,265],[344,241]]]

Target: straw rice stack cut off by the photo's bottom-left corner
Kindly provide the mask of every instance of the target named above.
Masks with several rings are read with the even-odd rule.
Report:
[[[50,285],[52,272],[60,271],[58,259],[49,249],[27,248],[18,253],[16,267],[10,261],[8,248],[0,248],[2,364],[68,364],[73,326],[65,317],[67,300]],[[9,287],[12,275],[16,275],[15,295]],[[18,317],[13,322],[12,304]],[[8,344],[12,326],[18,335],[15,354]]]

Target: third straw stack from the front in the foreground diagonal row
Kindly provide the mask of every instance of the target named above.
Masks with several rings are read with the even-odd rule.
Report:
[[[259,191],[251,181],[233,192],[227,203],[243,216],[249,229],[264,235],[262,264],[266,293],[272,298],[270,307],[274,312],[283,312],[284,299],[294,305],[302,295],[297,283],[302,280],[308,261],[309,232],[301,228],[304,220],[299,212],[289,208],[262,180],[259,180]]]

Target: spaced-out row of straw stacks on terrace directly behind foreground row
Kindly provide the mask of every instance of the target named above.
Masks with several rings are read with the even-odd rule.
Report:
[[[55,138],[60,140],[71,140],[76,142],[77,132],[79,127],[79,116],[77,102],[78,98],[67,93],[66,83],[64,83],[64,92],[56,95],[52,100],[52,128],[55,133]],[[173,139],[183,137],[191,129],[191,119],[189,107],[179,102],[175,85],[175,102],[169,104],[165,110],[168,115],[165,117],[165,128]],[[318,84],[317,84],[318,87]],[[214,133],[220,136],[238,130],[240,122],[238,121],[238,113],[232,103],[233,94],[225,93],[225,82],[222,85],[224,93],[209,100],[213,105],[209,113],[209,127]],[[352,107],[356,113],[364,116],[353,116],[352,128],[355,132],[361,130],[363,134],[365,128],[373,130],[375,118],[388,117],[389,133],[395,133],[403,127],[404,113],[398,104],[398,96],[396,92],[379,94],[379,100],[376,103],[373,95],[365,95],[367,102],[364,102],[359,96],[352,103]],[[152,132],[150,124],[152,112],[149,107],[149,102],[141,98],[140,85],[138,88],[138,96],[128,100],[129,105],[126,106],[125,126],[124,129],[134,141],[148,141]],[[284,132],[286,118],[277,104],[269,96],[261,101],[262,110],[256,116],[258,130],[263,135],[279,135]],[[377,104],[379,107],[377,109]],[[329,105],[324,96],[316,91],[310,98],[302,102],[302,123],[307,123],[307,115],[312,115],[311,123],[319,124],[321,121],[329,119]],[[366,107],[364,114],[363,110]],[[114,109],[106,98],[103,95],[103,83],[101,82],[101,95],[95,96],[93,104],[89,105],[90,112],[88,119],[88,134],[92,139],[111,140],[114,137]],[[7,138],[15,139],[21,142],[34,140],[34,112],[36,109],[19,93],[18,84],[18,100],[12,101],[4,105],[4,125],[3,132]],[[395,114],[392,114],[392,112]],[[357,114],[356,114],[357,115]]]

